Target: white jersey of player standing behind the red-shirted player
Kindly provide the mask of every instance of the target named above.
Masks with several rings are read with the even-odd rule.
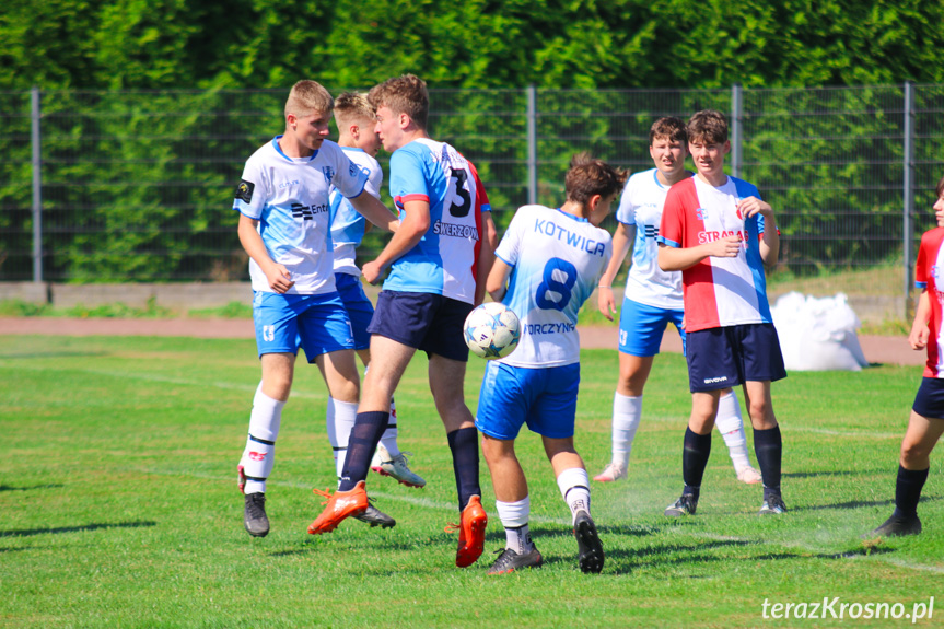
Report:
[[[681,272],[659,268],[659,225],[668,186],[656,177],[655,168],[632,175],[626,182],[616,220],[636,225],[632,266],[626,279],[626,299],[665,310],[683,310]]]

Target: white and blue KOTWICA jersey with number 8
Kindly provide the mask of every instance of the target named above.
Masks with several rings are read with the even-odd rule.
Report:
[[[544,206],[520,208],[496,255],[513,267],[502,303],[521,319],[521,341],[500,362],[523,368],[580,361],[576,314],[613,255],[606,230]]]

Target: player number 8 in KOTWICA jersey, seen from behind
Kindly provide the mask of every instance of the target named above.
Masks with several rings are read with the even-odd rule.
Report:
[[[496,251],[487,288],[492,299],[518,315],[522,338],[509,357],[486,366],[476,413],[506,539],[489,574],[544,562],[528,531],[531,497],[514,450],[525,423],[541,435],[570,508],[580,569],[603,570],[603,546],[590,515],[590,479],[573,446],[580,383],[575,326],[580,306],[611,255],[609,233],[597,225],[625,180],[623,173],[604,162],[575,155],[564,180],[563,206],[518,209]]]

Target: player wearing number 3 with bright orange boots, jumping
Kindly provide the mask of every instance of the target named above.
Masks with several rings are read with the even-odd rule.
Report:
[[[481,506],[478,433],[465,404],[468,348],[463,323],[485,294],[493,226],[475,167],[453,147],[427,133],[426,83],[406,74],[369,94],[376,130],[391,155],[391,196],[400,226],[384,251],[363,266],[373,283],[391,268],[377,299],[371,333],[371,369],[358,408],[341,484],[308,526],[334,531],[368,504],[364,479],[389,416],[391,397],[413,353],[429,356],[430,389],[445,427],[461,511],[456,566],[478,560],[488,516]]]

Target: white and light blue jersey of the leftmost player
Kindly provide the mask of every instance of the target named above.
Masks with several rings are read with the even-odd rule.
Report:
[[[357,197],[366,174],[335,142],[325,140],[311,158],[289,158],[277,136],[246,161],[233,209],[259,221],[258,231],[273,261],[284,265],[294,286],[287,294],[335,291],[334,255],[328,222],[331,186]],[[266,273],[249,260],[253,290],[275,292]]]

